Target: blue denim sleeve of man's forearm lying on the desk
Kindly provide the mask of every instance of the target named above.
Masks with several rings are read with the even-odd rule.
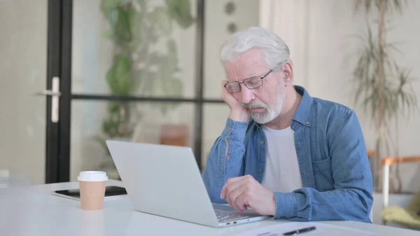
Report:
[[[291,221],[346,220],[370,222],[372,195],[357,188],[339,188],[319,192],[301,188],[293,193],[274,193],[274,218]]]

